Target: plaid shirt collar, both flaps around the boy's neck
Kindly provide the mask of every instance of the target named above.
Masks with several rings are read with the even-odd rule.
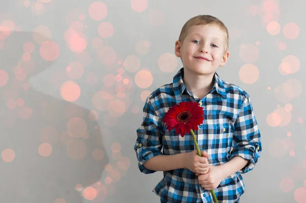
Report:
[[[173,89],[174,89],[174,95],[176,98],[180,98],[183,94],[183,92],[186,90],[186,87],[183,82],[184,78],[184,68],[181,68],[173,77]],[[224,89],[224,83],[220,79],[217,72],[214,74],[214,86],[212,88],[212,91],[216,91],[221,97],[226,98],[226,92]]]

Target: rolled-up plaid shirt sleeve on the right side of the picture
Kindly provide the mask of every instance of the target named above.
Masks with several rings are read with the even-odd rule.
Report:
[[[262,144],[261,134],[249,97],[242,104],[235,122],[232,146],[233,150],[231,151],[230,160],[235,156],[248,160],[247,165],[238,172],[246,173],[252,170],[261,156]]]

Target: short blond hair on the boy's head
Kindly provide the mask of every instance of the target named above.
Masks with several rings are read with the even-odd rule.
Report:
[[[206,25],[206,24],[216,24],[220,27],[221,30],[225,32],[225,40],[224,40],[224,53],[228,52],[228,30],[225,27],[224,23],[219,20],[218,18],[211,16],[211,15],[198,15],[190,18],[183,26],[181,30],[181,34],[179,37],[179,41],[183,43],[184,39],[187,36],[188,30],[191,26],[199,26],[199,25]]]

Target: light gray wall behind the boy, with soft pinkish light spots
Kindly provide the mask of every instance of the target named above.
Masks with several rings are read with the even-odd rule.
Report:
[[[148,1],[143,12],[131,6],[131,3],[143,2],[103,1],[107,14],[101,20],[94,20],[89,14],[93,1],[1,2],[0,69],[3,71],[0,78],[4,81],[5,71],[9,79],[7,83],[0,82],[1,202],[159,202],[152,189],[162,178],[162,172],[141,173],[133,149],[136,129],[142,121],[141,93],[172,82],[174,74],[182,67],[181,60],[174,57],[175,40],[184,23],[199,14],[216,16],[228,28],[231,55],[217,72],[221,79],[250,94],[262,133],[262,156],[252,171],[243,174],[246,190],[241,202],[306,202],[305,110],[302,103],[305,100],[306,26],[303,15],[306,2],[157,0]],[[274,7],[266,7],[269,4]],[[37,8],[42,10],[37,11]],[[155,12],[160,15],[154,16]],[[80,15],[83,17],[79,18]],[[14,26],[8,26],[7,21],[3,23],[5,20],[12,21]],[[72,21],[81,22],[75,31],[77,36],[87,38],[86,49],[80,53],[74,53],[64,38]],[[270,21],[280,25],[276,35],[267,31]],[[110,37],[98,34],[101,22],[112,24]],[[287,23],[298,26],[296,38],[288,39],[284,35]],[[38,26],[47,27],[51,35],[37,32]],[[42,40],[35,41],[33,34]],[[95,38],[100,38],[103,44],[93,43]],[[149,41],[149,46],[139,48],[137,44],[145,45],[143,40]],[[40,56],[39,49],[45,41],[53,41],[59,46],[59,56],[55,60],[46,61]],[[32,65],[22,62],[23,44],[27,42],[35,46],[31,53]],[[285,50],[279,49],[281,42],[287,44]],[[116,55],[105,52],[107,46],[112,47]],[[54,52],[53,49],[49,51]],[[98,57],[97,53],[104,57]],[[177,61],[175,69],[168,68],[169,72],[162,71],[166,63],[163,66],[158,63],[165,53],[173,55],[166,61],[173,61],[173,58],[174,64]],[[300,64],[293,64],[294,71],[282,74],[279,65],[289,55],[295,56]],[[112,56],[114,60],[106,63]],[[129,56],[136,56],[141,64],[126,65],[124,61]],[[83,65],[82,77],[69,77],[66,68],[71,62]],[[35,69],[29,69],[33,68],[33,63]],[[245,64],[253,64],[259,70],[259,78],[252,84],[244,80],[253,77],[251,72],[239,77]],[[27,76],[20,79],[21,73],[16,73],[16,67]],[[131,67],[136,71],[131,71]],[[142,69],[152,74],[152,84],[147,88],[140,88],[135,78]],[[78,73],[78,70],[73,71]],[[107,74],[113,77],[106,80]],[[90,75],[94,75],[93,79]],[[124,79],[128,80],[123,82]],[[62,96],[61,85],[66,81],[79,85],[81,94],[77,100],[70,102]],[[25,91],[23,87],[30,88]],[[118,93],[120,88],[124,95]],[[99,94],[99,91],[103,92]],[[97,119],[91,119],[97,115]],[[274,119],[276,126],[271,126],[271,115],[280,118]],[[75,117],[82,118],[87,128],[77,123],[73,126],[80,131],[71,136],[67,134],[71,130],[67,124]],[[81,133],[81,137],[80,132],[84,129],[87,133]],[[40,155],[42,143],[52,147],[49,156]],[[104,156],[100,158],[103,159],[94,159],[96,149],[102,151]],[[10,157],[12,151],[14,156]],[[82,187],[75,189],[77,184]]]

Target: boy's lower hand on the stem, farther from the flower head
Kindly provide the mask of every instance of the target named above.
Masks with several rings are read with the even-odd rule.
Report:
[[[199,184],[206,190],[216,189],[223,180],[222,171],[218,166],[209,166],[207,174],[198,175]]]

